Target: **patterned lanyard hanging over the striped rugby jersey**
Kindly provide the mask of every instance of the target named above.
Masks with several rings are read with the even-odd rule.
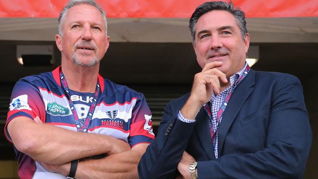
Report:
[[[96,102],[97,102],[97,99],[98,99],[98,95],[100,93],[99,81],[97,80],[96,92],[94,93],[94,99],[92,100],[90,110],[87,113],[87,116],[86,116],[86,118],[84,120],[84,123],[81,124],[80,121],[79,121],[79,117],[77,115],[76,109],[74,107],[74,103],[73,103],[73,101],[70,98],[68,84],[66,82],[66,79],[64,78],[62,70],[60,71],[60,79],[61,79],[61,84],[62,84],[63,90],[68,95],[68,104],[69,104],[70,110],[73,113],[72,116],[73,116],[73,120],[74,120],[74,123],[75,123],[76,128],[77,128],[77,132],[86,133],[88,131],[89,125],[91,123],[91,118],[92,118],[92,115],[93,115],[93,113],[95,111]]]

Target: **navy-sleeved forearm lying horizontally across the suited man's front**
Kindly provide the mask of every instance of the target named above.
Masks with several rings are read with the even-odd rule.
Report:
[[[209,179],[300,179],[306,165],[308,146],[276,142],[254,154],[225,155],[199,161],[198,178]]]

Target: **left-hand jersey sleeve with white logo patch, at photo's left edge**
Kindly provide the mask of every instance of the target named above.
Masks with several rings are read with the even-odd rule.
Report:
[[[30,82],[19,80],[11,93],[9,112],[4,127],[4,135],[8,141],[12,142],[7,131],[8,123],[16,117],[25,116],[33,120],[39,116],[45,122],[45,105],[40,91]]]

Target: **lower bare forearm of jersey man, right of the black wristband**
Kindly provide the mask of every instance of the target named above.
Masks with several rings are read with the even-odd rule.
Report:
[[[101,159],[78,163],[76,179],[138,179],[137,165],[149,144],[138,144],[138,149]]]

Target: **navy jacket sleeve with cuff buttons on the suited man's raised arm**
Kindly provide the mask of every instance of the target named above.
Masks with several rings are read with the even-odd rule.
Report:
[[[188,144],[194,123],[177,119],[180,109],[174,110],[171,102],[164,108],[159,132],[138,164],[139,179],[171,179]]]

